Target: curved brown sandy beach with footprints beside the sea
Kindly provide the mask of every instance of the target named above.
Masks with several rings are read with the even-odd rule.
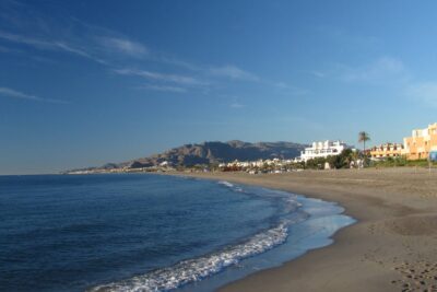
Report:
[[[335,201],[358,220],[334,244],[220,291],[437,291],[436,170],[192,175]]]

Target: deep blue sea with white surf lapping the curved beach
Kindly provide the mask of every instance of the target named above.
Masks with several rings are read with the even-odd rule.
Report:
[[[0,291],[215,291],[331,244],[343,212],[180,176],[0,176]]]

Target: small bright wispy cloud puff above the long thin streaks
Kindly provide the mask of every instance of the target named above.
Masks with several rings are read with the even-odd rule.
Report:
[[[99,37],[97,38],[107,50],[123,54],[133,58],[143,58],[150,54],[149,49],[137,42],[120,37]]]

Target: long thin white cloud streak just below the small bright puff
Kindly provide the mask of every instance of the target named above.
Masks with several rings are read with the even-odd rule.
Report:
[[[147,70],[137,70],[137,69],[116,69],[114,70],[114,72],[122,75],[137,75],[147,80],[173,82],[181,85],[190,85],[190,86],[208,85],[206,82],[200,81],[193,77],[179,75],[179,74],[164,74],[164,73],[152,72]]]

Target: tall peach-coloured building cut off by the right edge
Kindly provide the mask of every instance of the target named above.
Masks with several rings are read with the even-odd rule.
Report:
[[[415,129],[411,137],[403,139],[403,154],[408,160],[426,160],[429,153],[437,151],[437,122],[425,129]]]

